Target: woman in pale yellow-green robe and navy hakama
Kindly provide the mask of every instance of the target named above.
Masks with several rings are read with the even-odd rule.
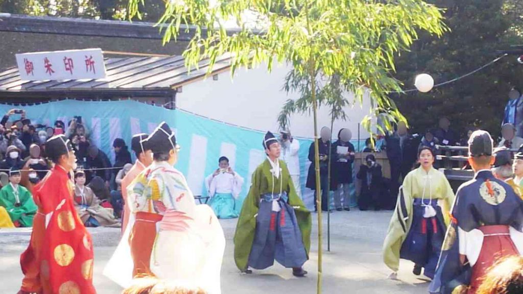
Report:
[[[436,227],[436,233],[438,233],[437,228],[443,225],[446,230],[450,221],[449,211],[454,201],[454,193],[447,178],[432,166],[434,154],[427,148],[420,149],[418,160],[420,166],[408,173],[403,180],[403,186],[400,189],[396,208],[383,244],[383,261],[386,266],[393,270],[390,278],[396,278],[396,272],[400,267],[400,251],[402,251],[402,258],[404,258],[402,245],[411,228],[422,228],[426,233],[427,220],[430,220],[428,225],[431,228]],[[430,205],[430,203],[433,203],[433,205]],[[419,208],[420,210],[417,211],[421,213],[417,213],[417,217],[414,217],[413,213],[415,207],[416,209]],[[437,224],[438,219],[441,219],[444,224],[440,224],[440,222]],[[422,226],[417,223],[419,221],[424,222]],[[413,222],[416,225],[413,225]],[[445,231],[441,232],[440,230],[439,234],[444,235]],[[441,239],[441,243],[442,241]],[[440,247],[441,244],[439,244]],[[417,264],[417,270],[415,267],[414,273],[416,275],[419,275],[420,266],[424,265]],[[435,269],[435,266],[431,265],[430,267]],[[427,267],[425,267],[425,275],[427,275]],[[431,274],[427,276],[430,277]]]

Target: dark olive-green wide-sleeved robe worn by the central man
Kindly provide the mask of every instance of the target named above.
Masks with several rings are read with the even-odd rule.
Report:
[[[288,204],[294,208],[306,255],[309,256],[312,226],[311,212],[296,194],[285,162],[280,160],[279,165],[281,174],[278,178],[272,176],[270,172],[272,167],[267,159],[256,168],[252,175],[251,188],[243,202],[240,219],[238,219],[236,233],[234,234],[234,261],[240,270],[245,270],[248,266],[249,254],[251,253],[255,237],[256,216],[260,205],[260,196],[272,193],[273,187],[275,195],[281,192],[280,187],[282,191],[287,192],[289,197]],[[274,183],[272,182],[273,179]]]

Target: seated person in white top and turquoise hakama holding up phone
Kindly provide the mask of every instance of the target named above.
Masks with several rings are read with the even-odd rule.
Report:
[[[229,166],[229,159],[225,156],[218,160],[219,168],[206,178],[209,197],[209,206],[219,219],[237,218],[240,207],[236,207],[242,191],[243,178]]]

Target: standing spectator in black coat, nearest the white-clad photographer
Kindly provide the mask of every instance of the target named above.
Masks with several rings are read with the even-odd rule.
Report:
[[[328,184],[328,154],[331,149],[331,129],[323,127],[320,131],[320,139],[318,140],[318,146],[320,151],[320,187],[316,187],[316,173],[315,173],[315,164],[314,164],[314,142],[311,143],[309,148],[309,161],[311,166],[309,167],[309,174],[307,175],[306,187],[312,190],[320,189],[322,191],[322,207],[323,211],[328,210],[329,206],[329,191],[327,191]],[[332,153],[332,163],[338,160],[337,153]],[[332,171],[331,163],[331,171]],[[332,174],[332,173],[331,173]],[[334,182],[334,177],[331,176],[331,191],[336,189],[336,183]],[[316,194],[314,193],[314,211],[317,211],[316,205]]]

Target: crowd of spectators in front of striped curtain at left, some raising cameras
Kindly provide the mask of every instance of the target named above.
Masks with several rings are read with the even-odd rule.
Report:
[[[46,141],[53,135],[64,134],[71,141],[77,157],[77,170],[85,173],[86,186],[93,190],[96,201],[110,208],[116,218],[121,217],[121,179],[132,166],[131,153],[126,142],[113,142],[115,162],[91,140],[82,117],[75,116],[66,124],[56,120],[52,126],[32,123],[23,109],[9,110],[0,121],[0,186],[6,186],[13,169],[20,170],[22,181],[29,191],[52,168],[46,160]]]

